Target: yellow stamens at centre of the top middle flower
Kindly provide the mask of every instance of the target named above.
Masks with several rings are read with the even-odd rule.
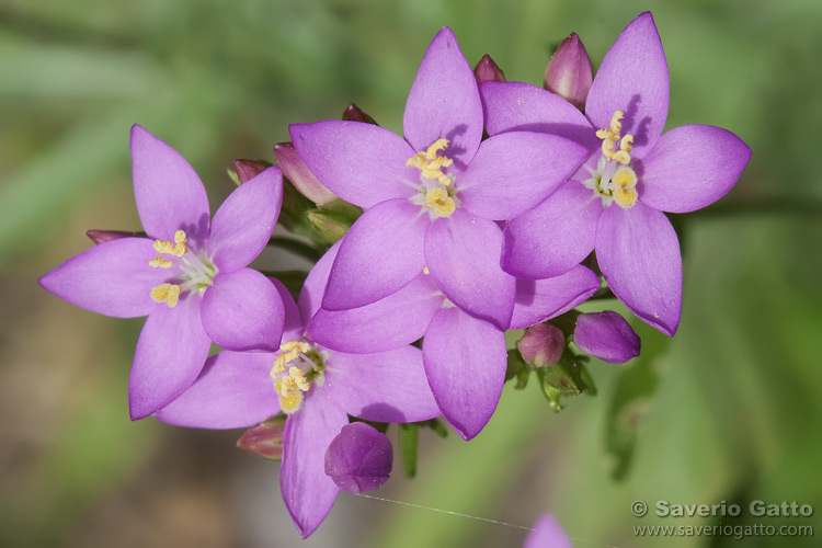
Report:
[[[420,170],[422,182],[415,185],[419,194],[411,198],[411,203],[427,212],[432,220],[437,217],[450,217],[459,205],[454,175],[443,173],[443,168],[452,165],[454,160],[438,156],[438,152],[447,147],[448,139],[437,139],[424,152],[416,152],[406,161],[406,165]]]

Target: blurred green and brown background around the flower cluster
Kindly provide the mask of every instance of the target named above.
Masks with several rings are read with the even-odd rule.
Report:
[[[822,2],[3,0],[0,545],[300,545],[277,465],[236,449],[239,432],[129,422],[141,320],[98,317],[35,283],[90,246],[87,229],[139,229],[132,124],[194,165],[214,209],[231,190],[230,162],[273,160],[289,123],[338,118],[355,102],[401,132],[416,66],[444,25],[469,62],[488,53],[510,80],[540,84],[570,32],[597,66],[644,10],[670,64],[667,127],[718,125],[754,150],[720,204],[676,219],[676,338],[639,326],[642,357],[592,363],[598,396],[559,414],[535,386],[506,386],[475,441],[422,432],[418,477],[404,479],[397,463],[374,494],[522,526],[553,512],[580,547],[740,544],[635,536],[635,525],[653,524],[813,525],[819,538]],[[637,518],[635,500],[798,501],[818,512]],[[506,547],[524,536],[343,494],[304,545]]]

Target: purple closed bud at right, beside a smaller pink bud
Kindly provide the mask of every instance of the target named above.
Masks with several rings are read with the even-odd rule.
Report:
[[[573,342],[585,354],[609,364],[621,364],[637,357],[641,345],[630,324],[613,310],[580,315]]]

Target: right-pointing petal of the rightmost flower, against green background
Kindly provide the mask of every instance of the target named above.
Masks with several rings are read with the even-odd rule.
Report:
[[[663,212],[700,209],[731,190],[750,159],[747,145],[727,129],[675,127],[642,157],[639,198]]]

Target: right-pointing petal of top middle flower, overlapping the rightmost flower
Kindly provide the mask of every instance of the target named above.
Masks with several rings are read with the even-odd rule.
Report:
[[[547,198],[587,157],[585,147],[556,135],[500,134],[459,174],[459,199],[480,217],[511,219]]]

